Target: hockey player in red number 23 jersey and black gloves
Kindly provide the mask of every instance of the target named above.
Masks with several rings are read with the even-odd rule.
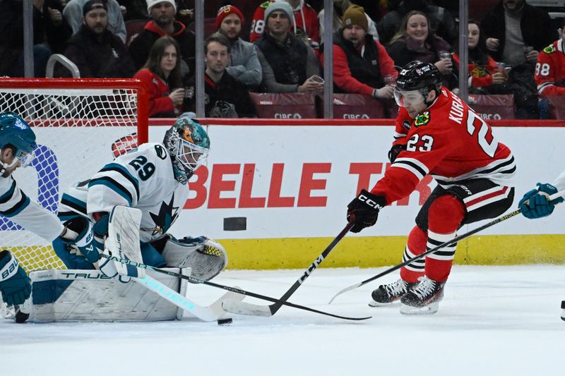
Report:
[[[347,220],[359,232],[376,223],[379,210],[410,195],[431,174],[438,184],[417,214],[403,260],[456,237],[463,224],[503,214],[512,204],[516,171],[506,145],[461,99],[441,87],[436,66],[408,63],[396,80],[400,106],[388,169],[370,192],[347,206]],[[400,300],[405,314],[436,313],[444,295],[456,245],[441,248],[400,269],[400,279],[371,294],[371,306]]]

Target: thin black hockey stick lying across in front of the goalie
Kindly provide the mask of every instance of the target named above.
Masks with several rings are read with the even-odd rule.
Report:
[[[245,296],[251,296],[252,298],[263,299],[263,301],[271,301],[273,303],[278,303],[280,301],[279,299],[271,298],[270,296],[265,296],[265,295],[261,295],[259,293],[253,293],[251,291],[237,289],[235,287],[225,286],[225,285],[222,285],[222,284],[216,284],[216,283],[210,282],[210,281],[203,281],[202,279],[197,279],[197,278],[194,278],[194,277],[186,276],[184,274],[180,274],[180,273],[176,273],[176,272],[170,272],[168,270],[159,269],[158,267],[152,267],[150,265],[145,265],[145,264],[142,264],[141,262],[135,262],[135,261],[132,261],[132,260],[126,260],[126,259],[121,258],[121,257],[106,255],[105,253],[100,253],[100,257],[107,258],[108,260],[121,262],[124,265],[131,265],[133,267],[139,267],[141,269],[153,270],[154,272],[158,272],[158,273],[162,273],[162,274],[168,274],[169,276],[172,276],[172,277],[186,279],[187,281],[190,281],[193,284],[206,284],[208,286],[213,286],[213,287],[216,287],[218,289],[232,291],[234,293],[239,293],[239,294],[245,295]],[[346,317],[346,316],[340,316],[340,315],[333,315],[333,313],[323,312],[321,310],[316,310],[314,308],[308,308],[308,307],[305,307],[304,305],[298,305],[298,304],[294,304],[294,303],[290,303],[290,302],[286,302],[286,301],[281,302],[281,304],[288,305],[289,307],[293,307],[293,308],[298,308],[299,310],[307,310],[309,312],[319,313],[321,315],[337,317],[338,319],[343,319],[343,320],[360,321],[360,320],[367,320],[367,319],[371,318],[371,316],[369,316],[369,317]]]

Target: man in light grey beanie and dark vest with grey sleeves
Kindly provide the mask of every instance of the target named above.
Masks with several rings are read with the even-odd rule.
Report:
[[[266,92],[322,92],[316,82],[319,62],[311,47],[290,32],[292,7],[275,1],[265,11],[266,29],[255,42],[263,68],[262,90]]]

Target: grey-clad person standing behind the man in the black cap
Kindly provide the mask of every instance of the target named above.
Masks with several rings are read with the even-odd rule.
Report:
[[[63,17],[76,34],[83,25],[83,7],[88,0],[71,0],[63,9]],[[108,10],[108,30],[126,42],[126,23],[121,8],[116,0],[102,0]]]

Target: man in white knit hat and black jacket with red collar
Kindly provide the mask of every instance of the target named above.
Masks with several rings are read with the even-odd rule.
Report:
[[[194,75],[196,69],[196,38],[183,23],[174,20],[177,5],[174,0],[147,0],[147,12],[151,20],[143,31],[129,44],[129,53],[137,68],[141,68],[149,56],[149,51],[160,37],[174,38],[181,49],[181,75],[183,80]]]

